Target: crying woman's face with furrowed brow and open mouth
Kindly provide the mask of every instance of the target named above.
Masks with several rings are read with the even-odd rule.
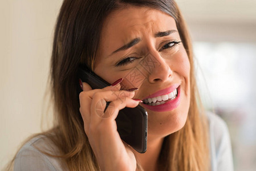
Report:
[[[172,17],[145,7],[117,10],[104,22],[98,48],[97,75],[109,83],[124,78],[123,89],[139,88],[134,98],[148,111],[149,139],[184,126],[190,63]]]

